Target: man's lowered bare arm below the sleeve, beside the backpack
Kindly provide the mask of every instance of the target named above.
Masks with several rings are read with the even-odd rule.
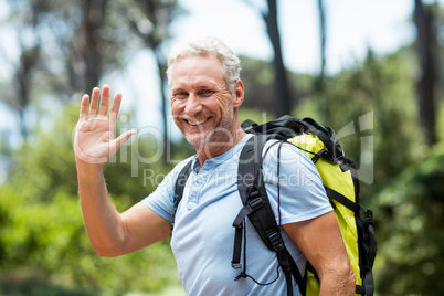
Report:
[[[285,233],[315,267],[319,295],[355,295],[356,278],[335,213],[283,225]]]

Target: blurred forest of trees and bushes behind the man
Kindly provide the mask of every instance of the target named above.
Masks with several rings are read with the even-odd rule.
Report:
[[[335,74],[325,71],[323,0],[314,15],[321,44],[317,74],[286,67],[278,1],[261,8],[244,1],[264,22],[274,59],[241,56],[241,117],[261,123],[290,113],[338,131],[362,172],[361,202],[374,211],[377,295],[444,294],[444,10],[411,1],[414,42],[383,55],[369,47]],[[163,75],[169,27],[187,11],[176,0],[9,0],[1,9],[0,25],[14,42],[0,47],[1,71],[9,74],[0,80],[1,121],[20,125],[2,129],[0,138],[0,295],[162,295],[179,286],[168,241],[117,258],[95,255],[78,204],[72,131],[81,95],[113,73],[125,75],[127,56],[146,51],[157,64],[144,75],[159,82],[160,109],[149,112],[161,115],[161,136],[139,129],[106,166],[117,209],[142,199],[172,160],[193,152],[169,128]],[[129,108],[117,134],[144,116],[150,115]]]

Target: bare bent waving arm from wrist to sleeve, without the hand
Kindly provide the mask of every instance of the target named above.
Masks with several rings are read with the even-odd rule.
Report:
[[[97,255],[124,255],[169,235],[170,222],[141,202],[118,213],[108,197],[102,168],[77,162],[77,176],[83,219]]]

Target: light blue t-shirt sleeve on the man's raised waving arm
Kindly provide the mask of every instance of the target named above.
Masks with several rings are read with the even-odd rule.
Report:
[[[173,220],[175,186],[181,169],[190,161],[188,158],[179,162],[160,182],[156,190],[141,202],[168,221]]]

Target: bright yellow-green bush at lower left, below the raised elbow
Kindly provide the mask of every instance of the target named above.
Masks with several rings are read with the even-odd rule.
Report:
[[[103,258],[91,247],[75,197],[57,193],[44,204],[8,188],[0,194],[2,271],[39,271],[49,283],[114,292],[159,290],[175,282],[167,242],[126,256]]]

